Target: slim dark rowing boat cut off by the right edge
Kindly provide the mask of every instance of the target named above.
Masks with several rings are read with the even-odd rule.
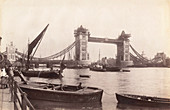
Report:
[[[118,103],[141,105],[141,106],[170,106],[170,99],[151,96],[116,93]]]

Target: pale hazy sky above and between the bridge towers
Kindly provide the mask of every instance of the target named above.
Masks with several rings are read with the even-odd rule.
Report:
[[[91,36],[116,39],[124,30],[130,44],[145,56],[170,57],[170,0],[0,0],[1,51],[12,41],[20,52],[49,24],[35,54],[45,57],[75,40],[80,25]],[[114,44],[89,43],[90,59],[115,57]]]

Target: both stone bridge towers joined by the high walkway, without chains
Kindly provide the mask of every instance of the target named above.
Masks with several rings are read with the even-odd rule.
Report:
[[[90,37],[90,32],[88,29],[83,28],[80,26],[77,30],[74,31],[75,41],[78,42],[78,45],[75,47],[76,53],[76,60],[87,61],[89,60],[88,52],[87,52],[87,45],[88,42],[96,42],[96,43],[110,43],[117,45],[117,58],[116,58],[116,65],[117,66],[128,66],[132,65],[133,61],[130,60],[130,34],[125,34],[122,31],[121,35],[118,39],[110,39],[110,38],[97,38],[97,37]]]

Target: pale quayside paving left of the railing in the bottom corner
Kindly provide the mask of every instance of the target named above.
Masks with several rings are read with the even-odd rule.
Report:
[[[0,89],[0,110],[14,110],[14,103],[11,101],[9,88]]]

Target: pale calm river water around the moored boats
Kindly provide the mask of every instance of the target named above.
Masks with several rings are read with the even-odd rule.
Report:
[[[39,110],[152,110],[160,108],[119,105],[115,93],[156,96],[170,98],[170,68],[128,68],[130,72],[95,72],[89,69],[65,69],[62,79],[29,78],[29,81],[62,83],[67,85],[94,86],[104,90],[102,103],[79,105],[55,103],[54,105],[38,106]],[[90,75],[90,78],[79,77]],[[69,99],[68,99],[69,100]],[[76,99],[75,99],[76,100]],[[170,108],[163,108],[170,109]]]

